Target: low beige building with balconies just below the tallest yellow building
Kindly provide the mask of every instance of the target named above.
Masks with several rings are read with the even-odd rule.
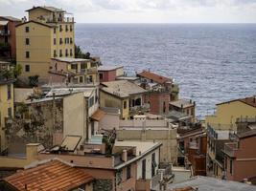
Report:
[[[51,59],[50,83],[96,83],[99,82],[98,66],[91,59],[55,57]]]

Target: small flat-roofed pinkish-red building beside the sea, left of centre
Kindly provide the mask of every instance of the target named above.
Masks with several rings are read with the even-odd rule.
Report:
[[[114,81],[116,77],[124,75],[123,66],[100,66],[98,68],[100,82]]]

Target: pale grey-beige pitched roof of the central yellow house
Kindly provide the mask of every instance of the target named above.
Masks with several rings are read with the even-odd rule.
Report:
[[[105,86],[102,88],[104,92],[119,97],[128,97],[147,92],[140,86],[129,82],[128,80],[103,82],[102,84]]]

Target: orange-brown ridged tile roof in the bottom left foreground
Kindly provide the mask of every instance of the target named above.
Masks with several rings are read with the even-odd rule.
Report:
[[[76,169],[58,159],[39,164],[17,172],[4,179],[17,190],[71,190],[88,183],[93,178],[82,170]]]

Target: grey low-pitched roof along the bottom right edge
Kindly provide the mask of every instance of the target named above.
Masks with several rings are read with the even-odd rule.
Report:
[[[210,177],[195,177],[190,180],[185,180],[182,182],[169,184],[168,190],[175,191],[176,188],[185,188],[185,187],[194,187],[198,188],[198,191],[233,191],[233,190],[240,190],[240,191],[253,191],[256,190],[256,186],[249,185],[246,183],[241,183],[238,181],[229,181],[229,180],[219,180]]]

